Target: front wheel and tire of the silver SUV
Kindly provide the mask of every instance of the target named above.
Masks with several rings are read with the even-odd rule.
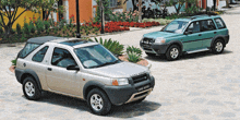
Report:
[[[107,115],[111,109],[108,96],[99,88],[92,89],[87,95],[87,105],[95,115]]]

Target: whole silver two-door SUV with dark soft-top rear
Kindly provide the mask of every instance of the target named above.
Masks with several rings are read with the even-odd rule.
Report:
[[[98,43],[53,36],[27,40],[15,76],[27,99],[39,99],[44,91],[68,95],[85,99],[96,115],[140,103],[155,85],[148,68],[123,62]]]

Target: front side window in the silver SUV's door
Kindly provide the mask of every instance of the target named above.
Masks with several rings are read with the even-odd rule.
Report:
[[[55,48],[51,58],[51,64],[67,68],[69,65],[76,65],[76,62],[68,50],[62,48]]]

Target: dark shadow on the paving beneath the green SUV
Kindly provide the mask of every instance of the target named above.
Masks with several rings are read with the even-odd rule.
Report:
[[[197,59],[197,58],[204,58],[204,57],[209,57],[209,56],[221,56],[221,55],[227,55],[227,53],[232,53],[232,51],[229,50],[224,50],[223,53],[219,55],[214,55],[211,51],[202,51],[202,52],[196,52],[196,53],[189,53],[189,55],[182,55],[179,60],[188,60],[188,59]],[[152,60],[152,61],[161,61],[161,62],[168,62],[167,58],[163,56],[156,56],[156,57],[145,57],[145,59]]]

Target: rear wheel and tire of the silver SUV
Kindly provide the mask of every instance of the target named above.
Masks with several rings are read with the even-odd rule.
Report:
[[[32,76],[27,76],[23,81],[23,93],[24,96],[29,100],[37,100],[40,98],[41,92]]]

